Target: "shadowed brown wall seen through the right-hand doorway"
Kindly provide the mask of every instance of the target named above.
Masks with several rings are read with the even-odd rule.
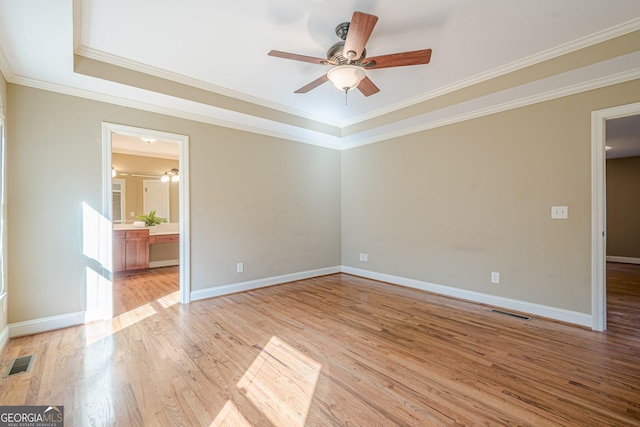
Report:
[[[640,258],[640,157],[607,160],[607,255]]]

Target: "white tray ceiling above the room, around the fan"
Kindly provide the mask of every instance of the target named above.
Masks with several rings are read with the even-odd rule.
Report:
[[[324,58],[338,41],[334,28],[354,10],[379,17],[368,56],[432,48],[431,63],[370,70],[381,91],[366,98],[350,92],[348,106],[330,83],[294,94],[328,68],[267,52]],[[605,76],[638,78],[636,51],[447,108],[393,116],[638,29],[638,0],[616,0],[615,7],[610,0],[0,0],[0,70],[12,83],[348,148]],[[74,54],[102,69],[115,65],[195,87],[208,98],[118,83],[113,70],[103,78],[81,67],[74,72]],[[373,124],[376,118],[383,120]]]

